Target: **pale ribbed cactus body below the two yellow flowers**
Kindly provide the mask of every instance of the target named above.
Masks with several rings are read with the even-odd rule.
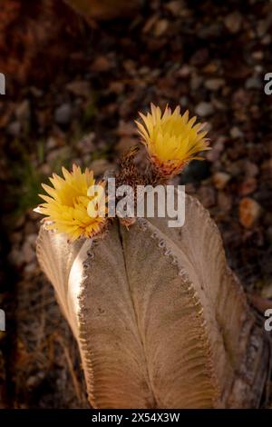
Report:
[[[39,263],[78,342],[95,408],[255,408],[270,343],[219,231],[186,196],[183,227],[116,219],[68,243],[42,225]]]

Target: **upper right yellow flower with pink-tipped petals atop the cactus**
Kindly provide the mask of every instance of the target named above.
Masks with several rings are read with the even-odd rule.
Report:
[[[172,113],[167,105],[162,114],[160,107],[151,104],[151,113],[140,116],[143,124],[136,124],[142,142],[160,174],[179,174],[192,159],[202,160],[195,154],[209,150],[207,132],[203,131],[205,124],[195,124],[197,117],[189,120],[188,111],[181,115],[180,106]]]

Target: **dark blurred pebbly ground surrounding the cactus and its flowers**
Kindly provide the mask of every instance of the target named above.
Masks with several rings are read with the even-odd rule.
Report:
[[[151,102],[209,123],[213,149],[180,183],[218,223],[248,293],[272,297],[271,36],[267,0],[1,0],[0,407],[88,407],[35,258],[33,208],[62,165],[117,164]]]

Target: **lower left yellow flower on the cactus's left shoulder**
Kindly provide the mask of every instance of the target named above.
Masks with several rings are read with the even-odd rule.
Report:
[[[88,188],[95,185],[92,171],[82,172],[73,164],[73,172],[63,167],[63,178],[53,174],[50,181],[53,187],[42,184],[49,195],[40,194],[45,203],[36,209],[53,222],[49,223],[49,229],[66,233],[72,241],[78,237],[92,237],[102,230],[106,222],[102,194],[87,195]]]

